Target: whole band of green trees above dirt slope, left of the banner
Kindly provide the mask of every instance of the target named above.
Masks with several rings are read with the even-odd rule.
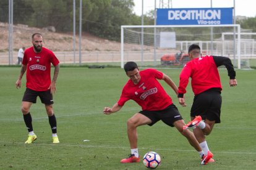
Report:
[[[56,31],[73,29],[72,0],[14,0],[14,24],[43,28],[54,26]],[[80,0],[75,0],[76,28],[79,29]],[[141,25],[133,12],[133,0],[82,0],[82,31],[119,41],[121,25]],[[0,1],[0,22],[8,22],[9,1]],[[152,25],[152,15],[144,15],[144,25]]]

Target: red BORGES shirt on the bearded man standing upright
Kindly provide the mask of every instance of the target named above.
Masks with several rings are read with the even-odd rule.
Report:
[[[26,87],[33,91],[48,91],[51,84],[51,63],[56,66],[59,60],[52,51],[42,47],[41,52],[36,53],[33,46],[26,49],[22,60],[27,65]]]

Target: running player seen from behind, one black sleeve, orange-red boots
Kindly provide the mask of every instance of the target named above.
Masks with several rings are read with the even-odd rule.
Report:
[[[204,155],[212,155],[205,135],[210,134],[215,123],[221,122],[222,87],[218,67],[224,65],[227,68],[230,86],[237,85],[236,72],[228,57],[211,55],[202,57],[200,47],[197,44],[189,46],[189,57],[191,60],[184,66],[179,77],[179,103],[186,106],[184,94],[189,78],[191,78],[195,97],[190,111],[192,121],[186,124],[184,129],[192,127],[195,137],[203,148]],[[203,157],[202,164],[205,164],[205,159],[207,158]],[[214,162],[214,160],[211,158],[208,162]]]

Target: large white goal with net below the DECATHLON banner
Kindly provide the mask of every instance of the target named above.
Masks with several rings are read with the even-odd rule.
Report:
[[[223,33],[233,36],[223,38]],[[188,61],[187,49],[194,43],[203,55],[229,57],[241,69],[241,27],[237,24],[122,25],[121,68],[129,61],[139,67],[183,67]]]

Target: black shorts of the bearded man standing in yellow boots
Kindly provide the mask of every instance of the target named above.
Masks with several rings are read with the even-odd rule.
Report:
[[[45,105],[53,104],[53,94],[51,94],[51,90],[48,91],[33,91],[32,89],[26,89],[23,95],[22,102],[32,102],[36,103],[36,98],[40,97],[41,102]]]

